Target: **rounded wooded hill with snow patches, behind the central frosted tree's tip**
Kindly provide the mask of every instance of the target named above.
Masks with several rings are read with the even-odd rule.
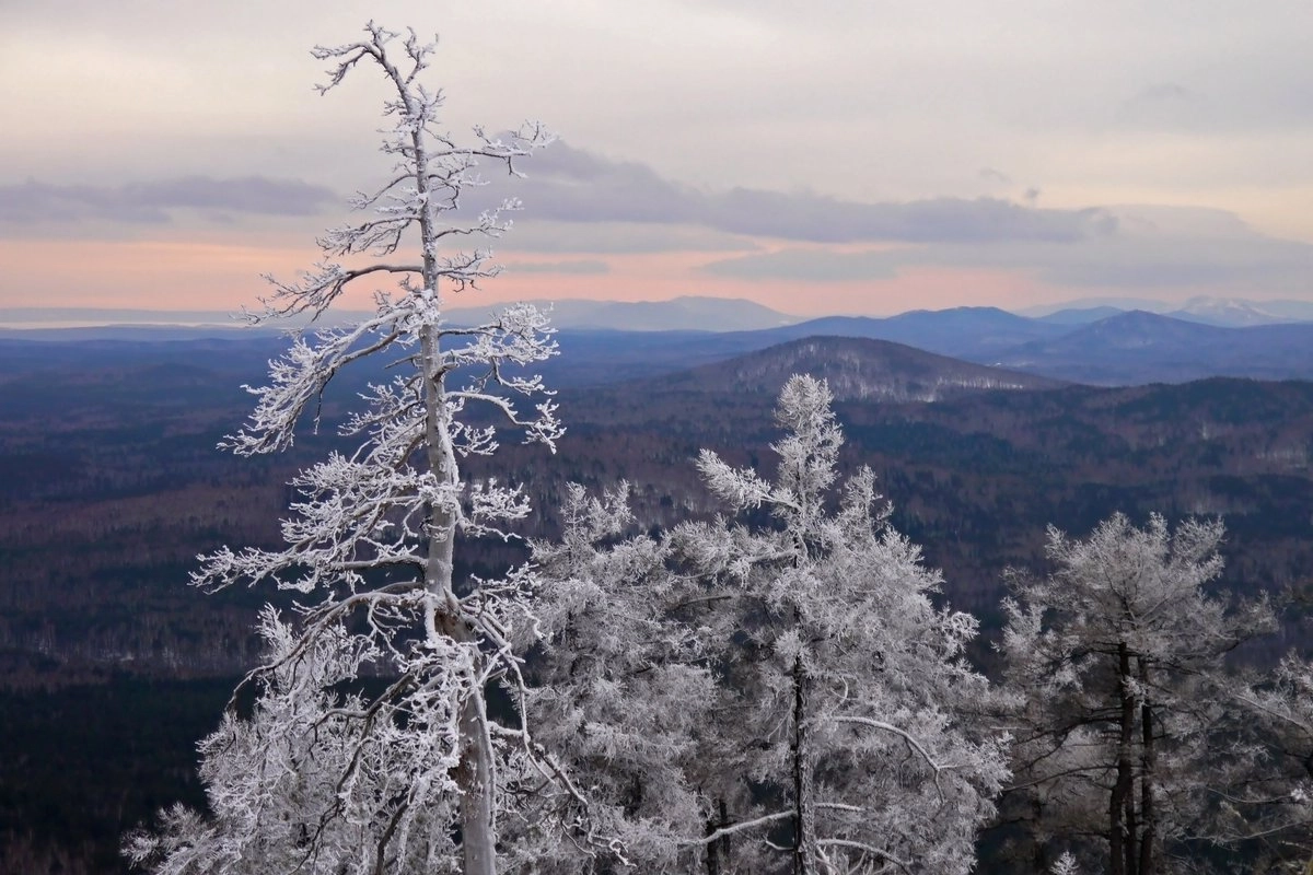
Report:
[[[666,391],[773,397],[793,374],[825,378],[843,401],[940,401],[985,390],[1065,384],[863,337],[804,337],[653,383]]]

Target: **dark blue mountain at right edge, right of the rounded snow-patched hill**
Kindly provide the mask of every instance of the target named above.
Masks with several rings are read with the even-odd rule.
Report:
[[[991,363],[1104,386],[1313,379],[1313,324],[1221,328],[1136,310],[1024,344]]]

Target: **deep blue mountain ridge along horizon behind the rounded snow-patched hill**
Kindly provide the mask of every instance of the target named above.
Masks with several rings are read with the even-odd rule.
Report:
[[[826,316],[752,331],[708,331],[705,324],[697,329],[642,332],[567,327],[555,335],[563,354],[545,363],[544,375],[559,386],[612,383],[685,370],[818,335],[905,344],[977,365],[1102,386],[1179,383],[1205,376],[1313,379],[1313,323],[1220,327],[1140,310],[1112,315],[1071,311],[1054,320],[1018,316],[997,307],[920,310],[886,319]],[[214,338],[277,345],[281,341],[272,328],[248,333],[232,328],[158,325],[0,332],[0,337],[81,344],[202,344]],[[32,354],[39,354],[39,348]]]

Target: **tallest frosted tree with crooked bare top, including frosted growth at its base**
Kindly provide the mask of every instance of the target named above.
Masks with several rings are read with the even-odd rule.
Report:
[[[374,291],[369,317],[297,338],[270,363],[269,384],[251,390],[255,412],[223,446],[288,447],[358,359],[381,356],[394,375],[341,425],[358,447],[294,480],[282,548],[222,548],[193,575],[207,590],[269,581],[301,601],[289,626],[265,623],[269,660],[243,683],[260,693],[255,712],[230,715],[202,748],[215,817],[175,812],[154,842],[134,841],[137,859],[158,871],[488,875],[500,809],[536,782],[571,795],[523,719],[513,640],[533,623],[532,572],[453,575],[458,537],[500,534],[528,513],[517,488],[467,481],[460,462],[496,449],[498,418],[554,449],[562,429],[550,392],[528,374],[555,345],[529,306],[475,327],[442,316],[448,295],[496,273],[478,244],[517,207],[460,218],[484,182],[481,164],[515,174],[517,159],[550,138],[527,125],[500,136],[475,129],[460,144],[439,119],[442,92],[423,81],[435,45],[370,22],[357,42],[314,50],[332,64],[320,92],[362,68],[385,80],[382,150],[395,167],[353,199],[364,218],[319,240],[323,261],[297,282],[270,279],[274,293],[252,319],[322,316],[349,289],[395,285]],[[491,716],[495,683],[516,719]]]

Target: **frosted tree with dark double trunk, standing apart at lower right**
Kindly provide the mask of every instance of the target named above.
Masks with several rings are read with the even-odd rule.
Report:
[[[1218,521],[1171,531],[1123,514],[1085,540],[1049,529],[1044,579],[1015,576],[1004,602],[1007,680],[1020,697],[1014,769],[1036,832],[1102,837],[1109,875],[1174,871],[1226,775],[1218,729],[1224,657],[1271,627],[1266,602],[1230,609],[1205,593],[1221,573]],[[1250,756],[1229,744],[1228,757]]]

